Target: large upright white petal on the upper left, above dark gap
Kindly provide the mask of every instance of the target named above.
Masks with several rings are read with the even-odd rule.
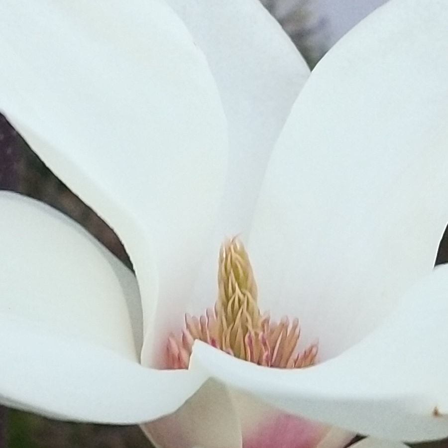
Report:
[[[224,184],[204,56],[159,0],[7,0],[0,58],[0,109],[122,238],[156,331],[154,299],[175,314],[193,288]]]

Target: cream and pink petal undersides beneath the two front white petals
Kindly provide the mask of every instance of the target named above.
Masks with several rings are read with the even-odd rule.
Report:
[[[142,429],[160,448],[342,448],[353,437],[213,380],[174,414]]]

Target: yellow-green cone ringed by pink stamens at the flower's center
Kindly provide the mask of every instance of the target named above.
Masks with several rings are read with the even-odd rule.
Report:
[[[169,368],[187,368],[193,342],[207,342],[226,353],[259,365],[300,368],[317,361],[317,343],[297,349],[299,320],[283,317],[279,323],[261,315],[257,286],[249,257],[236,237],[220,249],[218,300],[199,318],[185,315],[180,336],[170,335],[167,343]]]

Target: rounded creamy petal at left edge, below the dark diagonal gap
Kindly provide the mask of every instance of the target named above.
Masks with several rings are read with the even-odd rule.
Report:
[[[127,305],[139,305],[132,273],[80,225],[38,201],[2,192],[0,217],[0,312],[136,360]]]

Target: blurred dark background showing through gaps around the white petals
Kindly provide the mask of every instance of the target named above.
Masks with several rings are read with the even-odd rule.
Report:
[[[340,34],[354,23],[347,14],[326,16],[316,8],[313,0],[263,0],[268,10],[279,20],[296,46],[314,67],[336,40],[333,28]],[[323,3],[326,0],[315,0]],[[353,0],[332,0],[332,7],[348,7]],[[361,18],[384,0],[356,0],[359,11],[351,11],[352,21]],[[327,2],[328,3],[328,2]],[[318,5],[319,6],[319,5]],[[352,7],[352,6],[350,6]],[[348,11],[348,12],[350,12]],[[347,11],[346,11],[347,12]],[[347,12],[347,13],[348,13]],[[344,23],[339,23],[340,17]],[[351,16],[350,16],[351,17]],[[342,30],[342,31],[341,31]],[[27,147],[6,119],[0,115],[0,189],[13,190],[39,199],[70,216],[123,262],[129,258],[116,235],[89,207],[81,202],[59,181]],[[447,232],[446,232],[447,233]],[[438,263],[448,260],[448,236],[444,235]],[[0,406],[0,448],[133,448],[151,447],[137,426],[115,427],[93,424],[75,424],[49,420]],[[422,448],[448,448],[446,441],[420,444]],[[277,447],[272,447],[277,448]]]

